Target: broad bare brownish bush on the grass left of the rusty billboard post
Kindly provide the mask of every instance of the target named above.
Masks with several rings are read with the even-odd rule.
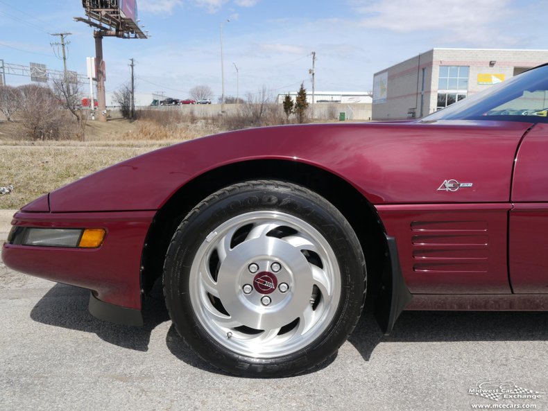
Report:
[[[58,98],[49,87],[23,85],[19,113],[28,136],[36,140],[60,139],[64,121]]]

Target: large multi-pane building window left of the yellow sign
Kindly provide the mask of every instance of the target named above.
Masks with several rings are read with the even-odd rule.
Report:
[[[466,98],[469,72],[468,66],[440,66],[438,110]]]

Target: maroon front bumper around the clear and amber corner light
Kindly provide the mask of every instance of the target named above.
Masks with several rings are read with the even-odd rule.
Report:
[[[141,259],[148,228],[155,211],[101,213],[16,213],[12,225],[42,228],[103,228],[106,236],[94,249],[37,247],[5,243],[4,263],[13,270],[59,283],[92,290],[92,314],[103,320],[114,308],[132,313],[124,323],[135,324],[142,309]],[[107,308],[105,308],[107,307]],[[127,311],[130,310],[130,311]],[[127,317],[127,316],[126,316]],[[132,320],[131,320],[132,319]],[[114,315],[114,322],[122,322]]]

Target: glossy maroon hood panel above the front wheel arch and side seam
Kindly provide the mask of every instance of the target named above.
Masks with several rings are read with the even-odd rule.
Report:
[[[482,201],[506,201],[515,150],[530,127],[529,123],[451,121],[286,125],[227,132],[105,168],[51,192],[49,208],[51,212],[155,210],[208,170],[272,159],[323,168],[350,182],[373,204],[447,201],[436,191],[447,179],[490,184],[496,180],[494,186],[486,186]],[[464,195],[459,200],[471,199]]]

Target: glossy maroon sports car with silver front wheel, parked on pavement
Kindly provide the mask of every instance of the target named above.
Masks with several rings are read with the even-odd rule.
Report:
[[[546,310],[547,97],[545,65],[421,121],[150,152],[27,204],[3,261],[125,324],[162,277],[189,347],[244,376],[331,356],[366,290],[385,333],[404,308]]]

